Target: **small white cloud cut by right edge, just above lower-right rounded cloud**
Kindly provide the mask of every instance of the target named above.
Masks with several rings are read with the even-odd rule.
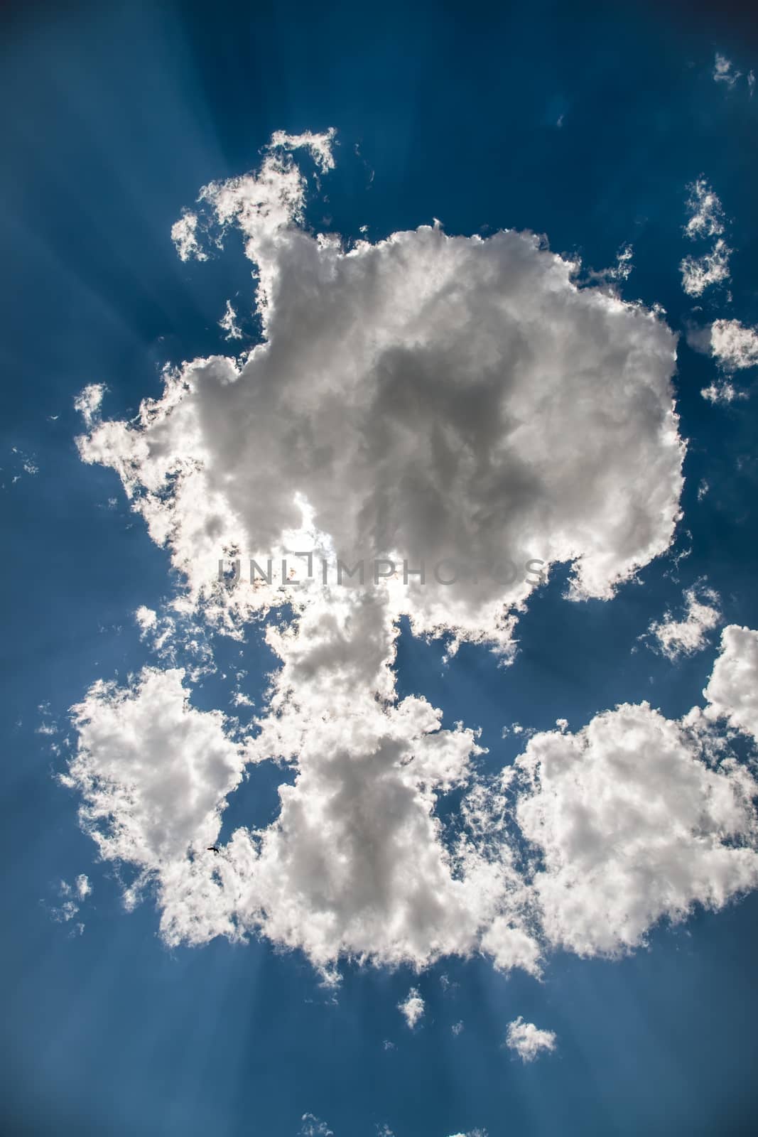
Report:
[[[758,740],[758,632],[730,624],[703,695],[707,714]]]

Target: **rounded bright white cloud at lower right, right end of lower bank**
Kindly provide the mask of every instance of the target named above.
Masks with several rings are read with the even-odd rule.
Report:
[[[758,882],[758,786],[715,761],[701,717],[625,704],[575,735],[530,740],[516,816],[541,856],[533,885],[552,945],[615,955],[661,918],[722,907]]]

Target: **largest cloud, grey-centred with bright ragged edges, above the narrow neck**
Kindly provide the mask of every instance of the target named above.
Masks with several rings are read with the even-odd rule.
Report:
[[[136,424],[101,423],[82,456],[119,472],[206,599],[224,550],[276,551],[305,517],[351,564],[425,561],[424,587],[386,586],[419,630],[506,641],[530,558],[574,562],[575,595],[610,596],[677,518],[668,327],[578,288],[530,233],[313,236],[281,148],[328,138],[276,138],[259,172],[200,196],[208,225],[244,234],[264,341],[167,372]],[[443,558],[467,579],[439,583]],[[249,582],[233,599],[272,601]]]

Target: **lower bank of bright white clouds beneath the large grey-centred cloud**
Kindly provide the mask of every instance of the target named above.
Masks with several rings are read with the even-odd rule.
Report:
[[[331,625],[332,613],[322,619]],[[369,645],[370,628],[369,613]],[[309,649],[291,631],[270,632],[272,644],[285,641],[284,665],[272,714],[244,746],[217,712],[186,705],[181,673],[148,671],[126,691],[95,684],[75,708],[68,785],[84,795],[101,855],[141,870],[127,898],[156,882],[167,943],[263,931],[301,947],[326,977],[340,956],[423,966],[476,949],[503,970],[539,973],[550,945],[617,954],[663,916],[720,907],[755,887],[758,788],[709,723],[726,715],[758,729],[758,633],[726,630],[705,715],[676,722],[625,705],[576,735],[536,735],[501,790],[470,783],[458,843],[445,852],[432,811],[438,792],[469,778],[473,738],[435,729],[439,713],[424,700],[360,702],[351,675],[363,661],[351,661],[355,641],[341,631],[344,623],[327,639],[322,629],[319,639],[311,630]],[[330,653],[322,671],[316,661]],[[386,682],[386,653],[377,641],[370,690]],[[311,705],[293,705],[294,690]],[[244,763],[295,754],[277,821],[238,829],[222,856],[205,856]],[[510,852],[517,824],[540,854],[525,877]]]

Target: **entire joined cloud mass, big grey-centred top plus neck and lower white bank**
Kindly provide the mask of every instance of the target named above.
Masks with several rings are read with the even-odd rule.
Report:
[[[177,670],[98,683],[74,708],[68,783],[102,856],[140,871],[130,898],[155,883],[166,943],[260,933],[327,979],[340,958],[418,969],[480,951],[539,973],[550,945],[613,954],[752,887],[752,783],[709,764],[705,716],[695,730],[642,704],[576,735],[561,721],[490,783],[473,731],[398,697],[399,614],[507,652],[531,584],[480,573],[413,588],[400,571],[323,587],[318,559],[291,589],[281,574],[217,580],[219,556],[243,551],[381,550],[415,566],[486,565],[506,548],[574,562],[573,595],[608,598],[678,517],[674,338],[656,315],[578,288],[531,234],[423,226],[345,251],[299,226],[306,190],[286,153],[206,186],[256,260],[266,338],[244,363],[168,371],[136,422],[80,440],[170,549],[188,617],[242,634],[294,607],[267,630],[278,670],[251,739],[193,708]],[[277,819],[205,855],[245,766],[266,761],[294,773]],[[461,789],[451,829],[438,807]],[[517,821],[539,871],[516,868]]]

